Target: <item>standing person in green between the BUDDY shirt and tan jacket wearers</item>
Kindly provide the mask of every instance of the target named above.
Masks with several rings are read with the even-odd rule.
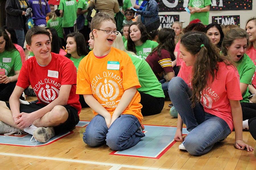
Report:
[[[80,29],[79,32],[82,33],[82,35],[84,35],[84,39],[85,42],[87,43],[89,38],[89,34],[90,34],[90,29],[89,29],[89,22],[86,19],[86,15],[88,13],[88,0],[79,0],[77,3],[77,14],[78,15],[84,15],[84,27],[83,29]]]

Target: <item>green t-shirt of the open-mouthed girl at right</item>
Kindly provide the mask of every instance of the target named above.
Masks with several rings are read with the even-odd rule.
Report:
[[[251,80],[255,72],[255,65],[253,64],[249,56],[247,56],[247,54],[244,54],[243,58],[241,58],[236,63],[237,63],[237,70],[240,75],[240,83],[251,84]],[[249,88],[247,87],[245,92],[242,94],[243,99],[240,100],[240,102],[249,103],[249,99],[248,99],[249,95],[250,95]]]

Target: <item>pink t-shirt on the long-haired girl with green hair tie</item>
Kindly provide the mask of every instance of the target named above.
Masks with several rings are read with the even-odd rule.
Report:
[[[239,74],[232,65],[220,62],[217,76],[214,81],[207,85],[202,91],[200,102],[205,112],[222,118],[232,131],[233,120],[229,100],[243,99],[240,92]],[[191,88],[192,66],[187,67],[181,63],[178,74]]]

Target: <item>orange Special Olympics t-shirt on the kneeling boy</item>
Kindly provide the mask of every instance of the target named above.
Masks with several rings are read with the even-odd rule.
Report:
[[[104,58],[96,58],[89,52],[79,64],[77,71],[77,94],[92,94],[111,114],[115,111],[124,91],[131,87],[140,88],[135,66],[124,51],[111,48]],[[136,116],[142,123],[141,95],[137,91],[122,114]],[[94,114],[98,114],[93,111]]]

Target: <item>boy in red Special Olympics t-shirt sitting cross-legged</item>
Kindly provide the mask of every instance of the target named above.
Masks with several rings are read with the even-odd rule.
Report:
[[[76,91],[73,62],[51,53],[49,32],[33,27],[26,34],[27,48],[34,53],[22,65],[9,103],[0,101],[0,134],[25,131],[36,141],[46,143],[55,133],[71,130],[79,122],[81,111]],[[20,104],[19,96],[31,85],[38,102]]]

